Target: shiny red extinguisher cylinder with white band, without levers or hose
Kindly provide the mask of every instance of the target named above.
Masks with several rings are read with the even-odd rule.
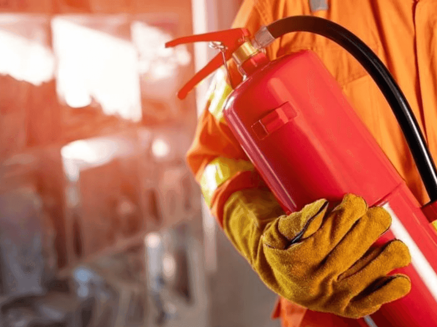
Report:
[[[257,69],[228,97],[229,128],[287,213],[320,198],[386,208],[379,243],[403,240],[411,292],[371,315],[379,327],[437,327],[437,233],[319,57],[304,50]],[[435,210],[428,210],[435,214]],[[365,324],[364,324],[365,325]]]

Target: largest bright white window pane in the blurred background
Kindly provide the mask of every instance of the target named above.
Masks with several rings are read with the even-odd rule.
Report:
[[[107,115],[141,120],[138,53],[129,39],[62,17],[52,20],[52,33],[57,92],[67,105],[94,99]]]

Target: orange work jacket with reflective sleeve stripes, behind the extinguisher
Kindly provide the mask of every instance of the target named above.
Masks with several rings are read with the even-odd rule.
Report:
[[[248,28],[253,34],[261,26],[283,17],[314,15],[349,29],[389,68],[410,103],[432,156],[437,159],[437,36],[433,33],[437,28],[437,0],[328,0],[322,9],[311,8],[324,2],[245,0],[233,27]],[[284,35],[268,47],[267,55],[275,59],[301,49],[311,49],[320,56],[418,201],[426,203],[429,199],[402,131],[371,77],[339,45],[311,33]],[[230,70],[236,85],[241,77],[232,63]],[[189,165],[219,223],[223,204],[230,194],[260,185],[258,174],[222,117],[222,105],[230,91],[221,70],[212,83],[207,108],[188,153]],[[305,313],[303,308],[284,299],[275,313],[281,315],[283,326],[348,325],[348,319]]]

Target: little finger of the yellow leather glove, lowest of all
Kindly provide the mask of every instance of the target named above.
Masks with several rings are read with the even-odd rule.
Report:
[[[346,313],[356,317],[373,313],[384,303],[407,295],[410,289],[411,281],[408,276],[399,274],[383,277],[352,299]]]

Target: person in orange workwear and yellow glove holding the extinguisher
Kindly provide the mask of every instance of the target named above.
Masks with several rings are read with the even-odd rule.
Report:
[[[313,15],[347,28],[393,74],[435,158],[437,61],[430,45],[435,43],[436,14],[437,6],[423,0],[244,0],[233,27],[247,28],[254,35],[261,26],[278,19]],[[299,32],[277,39],[266,53],[273,60],[302,49],[319,55],[419,203],[428,202],[391,108],[346,50],[322,36]],[[241,81],[231,61],[229,75],[232,85]],[[187,160],[230,241],[263,282],[281,295],[273,316],[280,316],[284,327],[355,326],[356,318],[407,294],[411,287],[408,276],[386,277],[394,268],[409,264],[405,244],[396,240],[381,248],[371,247],[391,223],[384,209],[368,208],[359,195],[348,194],[334,209],[321,199],[284,215],[223,119],[230,85],[224,69],[218,70]],[[362,228],[355,224],[357,220]],[[353,240],[342,239],[351,232]],[[354,254],[346,251],[351,244],[360,244]],[[335,255],[328,258],[330,252]],[[381,280],[387,283],[365,292],[367,286]],[[360,296],[355,297],[357,294]]]

